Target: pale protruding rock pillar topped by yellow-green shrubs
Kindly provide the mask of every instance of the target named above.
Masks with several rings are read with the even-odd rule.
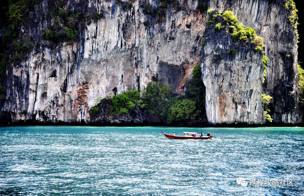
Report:
[[[239,46],[224,29],[216,32],[210,27],[205,37],[201,67],[208,121],[212,124],[263,124],[263,55],[252,45]],[[236,50],[236,54],[231,50]]]

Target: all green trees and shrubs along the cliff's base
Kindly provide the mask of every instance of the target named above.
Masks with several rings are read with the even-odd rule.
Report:
[[[205,86],[200,65],[193,68],[192,75],[192,80],[185,85],[185,95],[173,96],[170,84],[151,81],[142,92],[130,90],[104,100],[112,102],[115,115],[129,113],[138,105],[147,114],[166,119],[169,124],[195,120],[205,113]],[[98,105],[93,106],[91,115],[97,115],[99,109]]]

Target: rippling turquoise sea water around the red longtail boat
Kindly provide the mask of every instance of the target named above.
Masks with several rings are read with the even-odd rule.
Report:
[[[160,130],[0,127],[0,195],[304,195],[304,128],[204,130],[223,140],[169,140]],[[250,186],[287,178],[294,186]]]

